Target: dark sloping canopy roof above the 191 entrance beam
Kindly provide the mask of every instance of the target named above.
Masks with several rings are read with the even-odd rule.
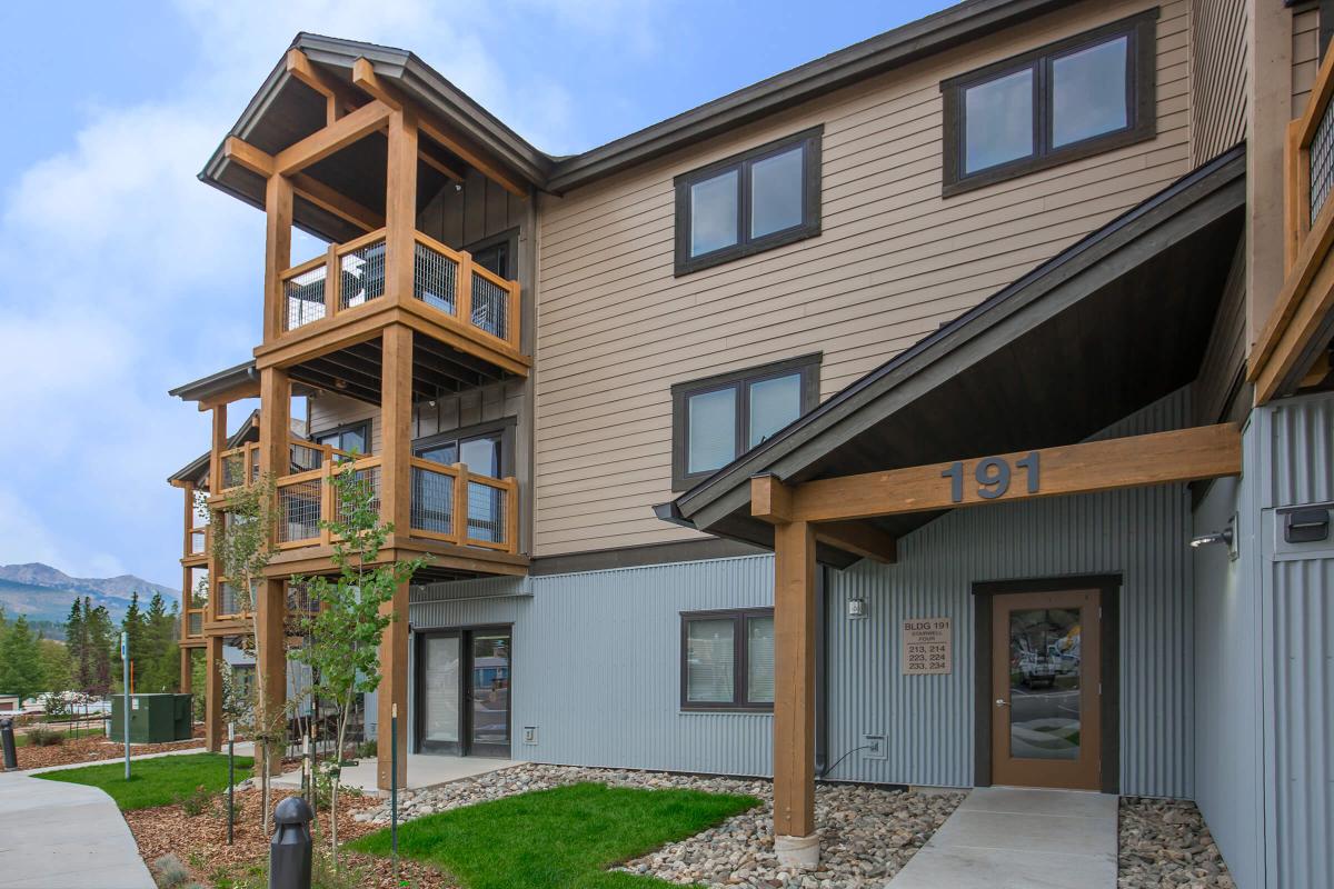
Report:
[[[656,508],[748,542],[750,478],[1081,441],[1190,383],[1242,231],[1245,145],[1187,173]],[[891,533],[928,521],[878,520]]]

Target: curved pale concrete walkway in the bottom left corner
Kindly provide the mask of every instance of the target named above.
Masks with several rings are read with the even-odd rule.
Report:
[[[153,889],[120,809],[97,788],[0,772],[0,889]]]

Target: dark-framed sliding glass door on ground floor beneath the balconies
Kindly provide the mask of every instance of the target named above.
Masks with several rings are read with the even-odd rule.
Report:
[[[418,658],[418,749],[508,757],[510,628],[424,632]]]

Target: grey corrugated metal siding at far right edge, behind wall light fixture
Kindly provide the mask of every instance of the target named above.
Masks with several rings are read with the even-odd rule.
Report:
[[[1334,396],[1254,415],[1262,485],[1266,886],[1334,885],[1334,545],[1287,544],[1283,506],[1334,500]]]

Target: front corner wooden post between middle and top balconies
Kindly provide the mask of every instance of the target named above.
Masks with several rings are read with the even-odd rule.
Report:
[[[382,343],[380,509],[384,521],[394,524],[392,540],[402,545],[412,526],[412,328],[390,325]]]

